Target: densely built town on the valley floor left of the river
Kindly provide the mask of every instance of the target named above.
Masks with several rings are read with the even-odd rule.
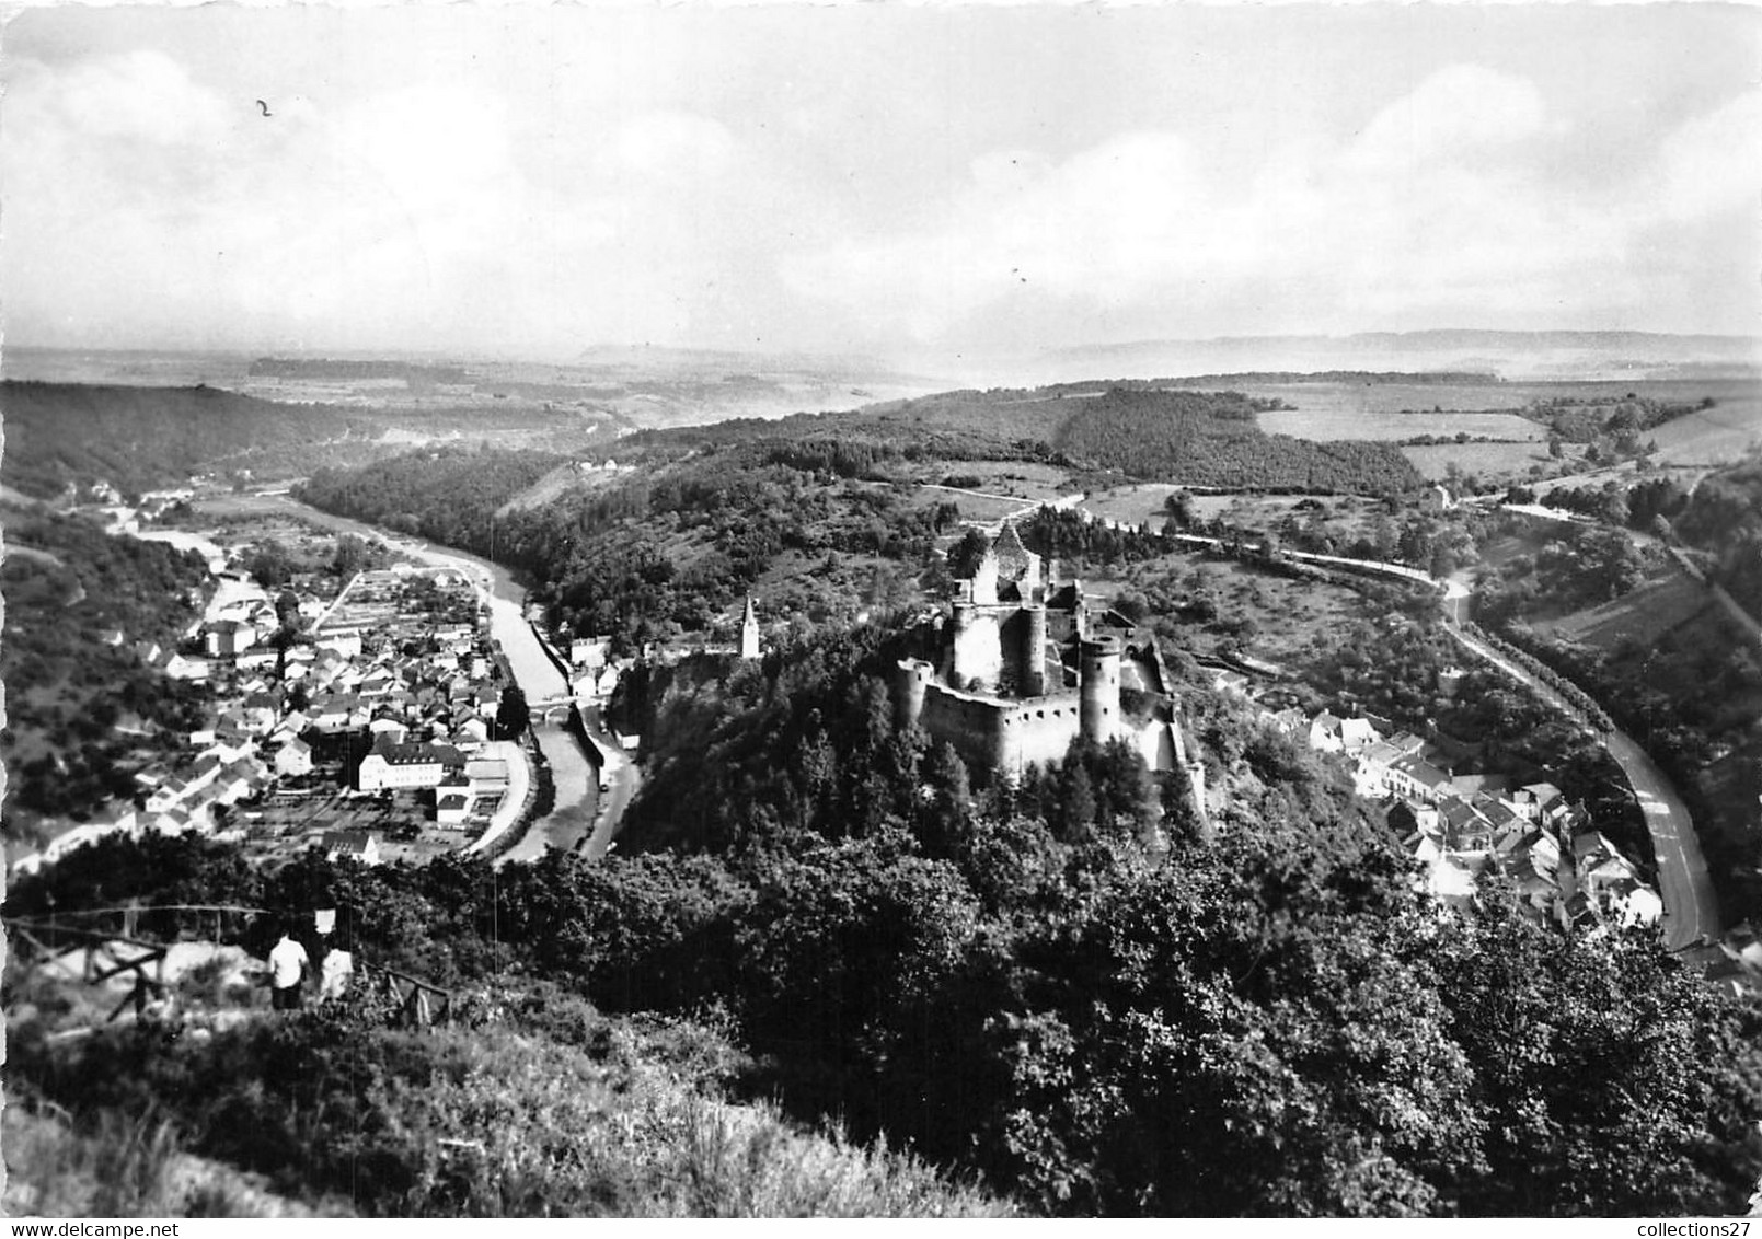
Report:
[[[99,500],[118,496],[104,484]],[[120,537],[141,533],[194,489],[148,495],[141,514],[111,509]],[[148,532],[148,535],[152,535]],[[176,757],[134,774],[134,804],[70,825],[12,857],[33,871],[97,838],[197,832],[268,864],[317,847],[377,864],[504,850],[530,818],[537,787],[525,697],[463,568],[414,563],[382,544],[386,567],[292,572],[273,588],[243,567],[261,544],[358,549],[282,524],[270,537],[204,542],[213,591],[178,648],[137,646],[171,679],[201,685],[208,722]],[[277,572],[277,576],[280,576]],[[116,639],[125,639],[116,634]],[[576,686],[604,697],[617,667],[578,642]]]

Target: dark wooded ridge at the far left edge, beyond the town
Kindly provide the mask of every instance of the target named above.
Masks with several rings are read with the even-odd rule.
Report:
[[[368,440],[368,419],[326,405],[278,405],[217,387],[0,384],[7,486],[51,498],[106,480],[125,495],[183,486],[226,461],[264,465],[289,449]],[[261,459],[259,459],[261,458]]]

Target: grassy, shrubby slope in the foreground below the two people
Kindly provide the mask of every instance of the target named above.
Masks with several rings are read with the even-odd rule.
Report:
[[[428,1033],[358,1007],[181,1040],[19,1030],[12,1052],[14,1079],[99,1133],[79,1156],[139,1163],[93,1172],[122,1191],[106,1197],[111,1216],[180,1211],[166,1186],[178,1132],[303,1207],[345,1200],[370,1216],[1010,1213],[913,1156],[724,1100],[733,1052],[712,1030],[613,1021],[557,993],[502,994],[476,1028]],[[26,1207],[106,1213],[58,1186],[53,1167],[79,1147],[9,1140],[9,1162],[44,1184]]]

